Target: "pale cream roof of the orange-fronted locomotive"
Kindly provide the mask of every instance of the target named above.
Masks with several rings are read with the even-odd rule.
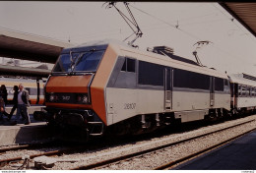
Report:
[[[107,46],[109,45],[111,45],[111,47],[114,48],[117,54],[121,56],[130,56],[130,57],[137,58],[139,60],[148,61],[148,62],[160,64],[163,66],[169,65],[170,67],[173,67],[173,68],[185,69],[185,70],[196,72],[196,73],[201,73],[201,74],[206,74],[210,76],[216,76],[216,77],[227,79],[226,74],[207,68],[207,67],[199,66],[196,62],[190,59],[186,59],[174,54],[165,56],[155,52],[143,51],[138,48],[132,47],[126,44],[125,42],[115,40],[115,39],[104,39],[104,40],[86,42],[77,46],[65,48],[62,50],[62,53],[69,53],[70,51],[79,52],[79,51],[90,51],[92,49],[97,49],[97,50],[106,49]]]

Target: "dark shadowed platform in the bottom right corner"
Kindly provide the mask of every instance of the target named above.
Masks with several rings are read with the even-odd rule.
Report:
[[[256,131],[173,170],[256,170]]]

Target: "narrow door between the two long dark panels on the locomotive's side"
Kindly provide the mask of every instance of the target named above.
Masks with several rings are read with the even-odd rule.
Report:
[[[164,69],[164,108],[165,111],[170,111],[172,108],[172,78],[171,78],[171,70],[170,68]]]

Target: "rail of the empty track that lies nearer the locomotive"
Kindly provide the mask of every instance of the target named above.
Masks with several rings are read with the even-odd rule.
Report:
[[[198,138],[202,138],[202,137],[209,136],[209,135],[212,135],[212,134],[215,134],[215,133],[218,133],[218,132],[222,132],[224,130],[231,129],[231,128],[234,128],[234,127],[237,127],[237,126],[241,126],[243,124],[247,124],[247,123],[250,123],[250,122],[253,122],[253,121],[255,121],[255,120],[249,120],[249,121],[246,121],[246,122],[243,122],[243,123],[239,123],[239,124],[236,124],[236,125],[233,125],[233,126],[226,127],[224,129],[220,129],[220,130],[217,130],[217,131],[214,131],[214,132],[206,133],[206,134],[199,135],[199,136],[196,136],[196,137],[192,137],[192,138],[189,138],[189,139],[181,140],[181,141],[178,141],[178,142],[174,142],[174,143],[170,143],[170,144],[163,144],[163,145],[160,145],[160,146],[157,146],[157,147],[154,147],[154,148],[141,150],[141,151],[138,151],[138,152],[135,152],[135,153],[130,153],[130,154],[114,157],[114,158],[111,158],[111,159],[103,160],[103,161],[96,162],[96,163],[89,164],[89,165],[79,166],[79,167],[73,168],[71,170],[95,169],[96,167],[101,167],[101,166],[108,165],[108,164],[111,164],[111,163],[114,163],[114,162],[130,159],[132,157],[143,155],[143,154],[146,154],[146,153],[149,153],[149,152],[154,152],[154,151],[163,149],[165,147],[173,146],[175,144],[186,143],[186,142],[198,139]]]

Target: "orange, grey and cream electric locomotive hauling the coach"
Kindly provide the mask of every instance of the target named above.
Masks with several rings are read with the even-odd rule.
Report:
[[[165,46],[141,51],[103,40],[62,50],[45,85],[47,121],[104,132],[141,134],[222,117],[230,111],[226,74],[174,55]]]

